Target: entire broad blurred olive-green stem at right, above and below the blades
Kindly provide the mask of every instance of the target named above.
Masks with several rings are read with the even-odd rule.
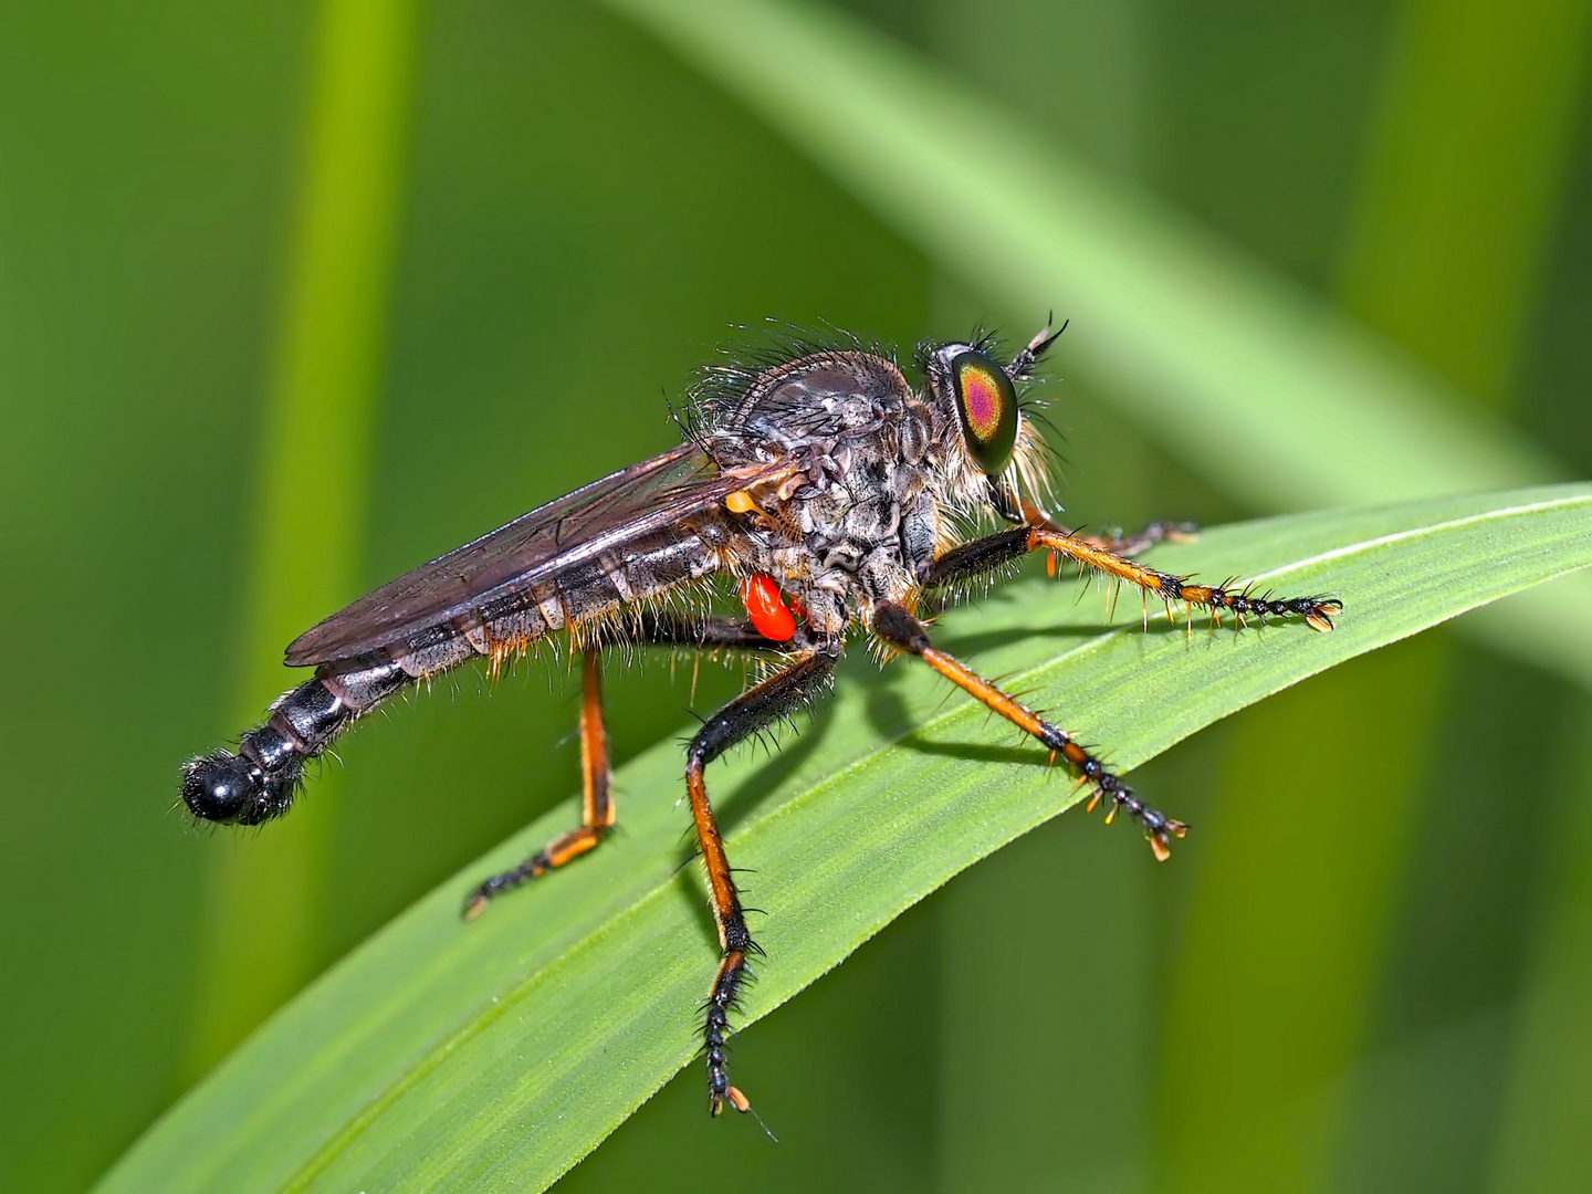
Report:
[[[1579,97],[1579,5],[1532,8],[1535,19],[1469,2],[1401,5],[1337,283],[1347,309],[1450,382],[1455,400],[1495,409],[1528,347]],[[1536,64],[1538,86],[1514,86],[1520,62]],[[1422,777],[1455,654],[1446,635],[1383,651],[1256,710],[1227,743],[1212,817],[1227,831],[1212,847],[1219,861],[1200,868],[1164,1038],[1161,1110],[1178,1126],[1161,1159],[1167,1184],[1329,1183],[1347,1122],[1340,1075],[1372,1027],[1412,828],[1446,810],[1423,806]],[[1374,743],[1377,758],[1348,748],[1337,767],[1299,771],[1321,740],[1290,736],[1305,726]],[[1290,777],[1286,801],[1278,777]],[[1309,834],[1290,829],[1297,809],[1312,810]]]

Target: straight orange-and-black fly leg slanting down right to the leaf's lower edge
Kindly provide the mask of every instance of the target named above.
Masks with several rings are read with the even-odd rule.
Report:
[[[1025,734],[1043,742],[1051,748],[1052,761],[1060,755],[1091,785],[1091,810],[1102,799],[1108,799],[1111,810],[1106,814],[1106,821],[1110,823],[1118,810],[1126,809],[1145,826],[1145,837],[1149,841],[1149,849],[1156,858],[1165,861],[1172,856],[1172,839],[1181,837],[1188,831],[1183,821],[1175,821],[1140,801],[1132,788],[1106,771],[1105,764],[1079,747],[1067,731],[1052,726],[1027,705],[1001,693],[966,664],[936,650],[928,640],[928,629],[903,607],[892,602],[876,605],[872,630],[890,646],[915,654],[957,688],[977,697],[993,713],[1000,713]]]

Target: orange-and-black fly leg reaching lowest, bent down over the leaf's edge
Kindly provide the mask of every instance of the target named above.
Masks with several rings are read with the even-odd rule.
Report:
[[[696,821],[697,849],[707,869],[708,896],[713,922],[718,925],[720,963],[708,989],[705,1022],[702,1025],[702,1054],[707,1060],[708,1111],[720,1114],[724,1103],[737,1111],[751,1105],[747,1097],[729,1084],[729,1068],[724,1059],[724,1041],[729,1036],[729,1013],[739,1008],[740,987],[747,981],[747,958],[759,954],[747,928],[740,893],[724,855],[724,842],[713,820],[707,783],[702,772],[737,742],[756,734],[764,726],[778,721],[798,705],[812,700],[834,673],[839,657],[839,642],[823,642],[799,654],[782,672],[755,685],[702,723],[702,729],[686,748],[686,793],[691,798],[691,817]]]

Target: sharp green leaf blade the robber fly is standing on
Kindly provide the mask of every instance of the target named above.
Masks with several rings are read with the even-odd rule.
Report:
[[[1130,769],[1333,664],[1592,564],[1592,486],[1288,516],[1149,559],[1331,591],[1345,611],[1328,635],[1173,626],[1161,610],[1146,630],[1132,592],[1108,624],[1110,591],[1033,576],[946,615],[938,642]],[[573,823],[573,802],[439,887],[255,1033],[103,1189],[552,1183],[696,1051],[718,947],[697,868],[681,864],[680,772],[669,742],[622,767],[624,833],[479,922],[458,919],[463,893]],[[740,751],[708,782],[751,903],[769,911],[753,923],[767,958],[742,1024],[1076,801],[1044,751],[982,707],[911,661],[880,673],[863,651],[807,732],[774,756]],[[1132,833],[1118,826],[1100,849],[1143,849]],[[780,1081],[736,1076],[753,1097]]]

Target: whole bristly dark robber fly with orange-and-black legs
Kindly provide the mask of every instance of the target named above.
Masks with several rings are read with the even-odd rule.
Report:
[[[1055,333],[1057,336],[1060,333]],[[183,771],[196,817],[259,825],[293,804],[304,764],[379,704],[473,656],[501,664],[551,635],[581,654],[581,823],[524,863],[492,876],[465,904],[540,879],[602,844],[615,826],[602,712],[602,653],[615,645],[739,651],[767,673],[713,713],[686,747],[685,783],[718,925],[721,957],[702,1028],[708,1110],[747,1111],[731,1086],[729,1014],[758,946],[713,821],[704,771],[751,734],[818,697],[856,632],[911,654],[1038,739],[1145,831],[1165,860],[1186,826],[1156,812],[1070,734],[933,645],[917,616],[936,592],[998,575],[1028,552],[1135,584],[1157,600],[1248,616],[1299,616],[1331,630],[1326,595],[1270,599],[1231,584],[1194,584],[1129,559],[1175,537],[1094,538],[1043,513],[1044,446],[1019,396],[1055,341],[1049,326],[1001,365],[992,339],[917,352],[914,390],[893,357],[860,344],[788,342],[750,365],[707,369],[680,419],[683,443],[551,501],[384,584],[287,650],[314,678],[287,693],[237,753]],[[981,521],[1005,529],[970,538]],[[723,618],[681,594],[728,578],[745,616]]]

